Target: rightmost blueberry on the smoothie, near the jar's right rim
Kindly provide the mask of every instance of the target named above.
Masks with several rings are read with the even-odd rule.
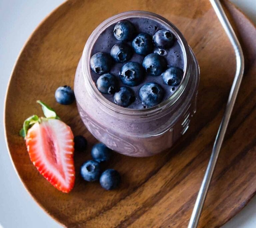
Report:
[[[180,84],[183,71],[177,67],[170,67],[162,73],[164,83],[169,86],[177,86]]]

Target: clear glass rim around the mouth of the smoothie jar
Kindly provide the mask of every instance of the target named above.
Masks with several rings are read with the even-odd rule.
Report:
[[[117,23],[120,20],[125,20],[131,17],[144,17],[153,19],[159,23],[164,24],[166,27],[168,27],[172,33],[174,33],[177,41],[179,42],[183,56],[184,56],[184,73],[183,78],[176,89],[176,91],[165,101],[161,102],[160,104],[146,108],[146,109],[130,109],[130,108],[124,108],[121,106],[118,106],[110,101],[108,101],[97,89],[94,81],[92,80],[92,77],[90,77],[90,58],[91,58],[91,52],[93,47],[93,42],[97,40],[100,33],[98,31],[102,31],[105,28],[107,28],[109,25]],[[163,109],[167,109],[171,106],[173,106],[180,98],[180,96],[183,94],[186,85],[188,83],[189,77],[190,77],[190,55],[189,55],[189,46],[187,44],[187,41],[185,40],[182,33],[178,30],[178,28],[172,24],[169,20],[166,18],[147,11],[126,11],[119,14],[116,14],[112,17],[109,17],[105,21],[103,21],[100,25],[98,25],[94,31],[89,36],[84,50],[82,54],[82,74],[84,77],[84,81],[86,82],[86,85],[89,85],[89,91],[93,94],[93,96],[96,97],[96,99],[104,105],[104,107],[108,108],[109,110],[120,113],[120,114],[126,114],[126,115],[138,115],[138,116],[148,116],[148,115],[154,115],[156,113],[159,113],[159,111],[162,111]]]

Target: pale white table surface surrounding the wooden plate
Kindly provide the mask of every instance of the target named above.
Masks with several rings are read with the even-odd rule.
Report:
[[[190,1],[190,0],[188,0]],[[231,0],[256,23],[256,0]],[[0,226],[61,227],[23,187],[9,158],[3,130],[3,104],[15,60],[36,26],[63,0],[0,0]],[[223,228],[256,227],[256,197]]]

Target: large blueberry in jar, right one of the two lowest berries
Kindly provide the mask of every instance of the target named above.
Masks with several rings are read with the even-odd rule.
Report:
[[[162,101],[164,90],[159,84],[150,82],[140,88],[139,96],[142,104],[151,107],[158,105]]]

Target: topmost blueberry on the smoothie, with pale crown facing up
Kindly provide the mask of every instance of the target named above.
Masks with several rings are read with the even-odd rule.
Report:
[[[134,37],[135,28],[131,22],[123,20],[116,23],[113,32],[117,40],[129,41]]]

